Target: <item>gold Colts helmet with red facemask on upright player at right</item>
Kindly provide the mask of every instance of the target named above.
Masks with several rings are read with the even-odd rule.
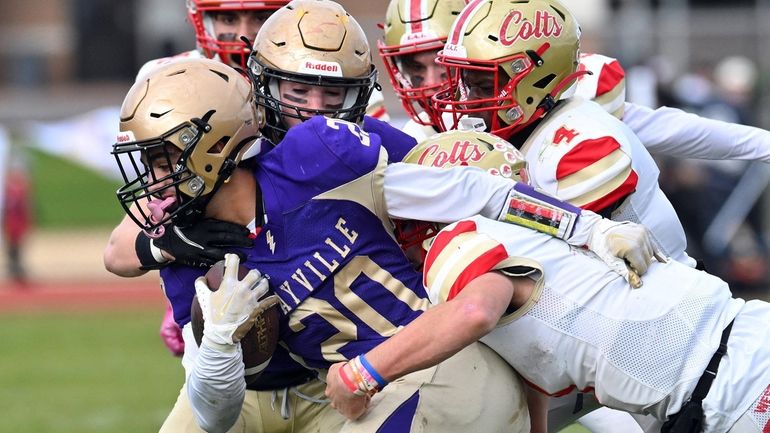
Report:
[[[450,84],[432,98],[434,125],[480,117],[509,138],[551,110],[577,76],[580,28],[556,0],[474,0],[450,31],[438,62]],[[439,119],[451,113],[448,125]]]

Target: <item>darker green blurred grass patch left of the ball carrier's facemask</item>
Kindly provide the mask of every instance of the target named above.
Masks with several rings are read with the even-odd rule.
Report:
[[[119,182],[32,148],[28,156],[38,227],[111,227],[123,217],[115,197]]]

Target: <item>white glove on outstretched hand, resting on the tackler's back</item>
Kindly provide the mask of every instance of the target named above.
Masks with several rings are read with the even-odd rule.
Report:
[[[647,228],[628,221],[599,219],[586,246],[634,288],[642,286],[641,275],[647,272],[653,258],[666,262],[653,245]]]

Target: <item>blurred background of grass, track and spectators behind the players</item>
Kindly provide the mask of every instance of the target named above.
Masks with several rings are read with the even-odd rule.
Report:
[[[621,60],[630,100],[770,128],[770,0],[564,1],[583,50]],[[340,2],[375,47],[387,1]],[[0,11],[0,432],[156,431],[183,380],[157,337],[157,278],[111,276],[101,252],[122,216],[117,109],[144,62],[193,48],[184,1]],[[770,168],[659,162],[691,254],[738,295],[769,297]]]

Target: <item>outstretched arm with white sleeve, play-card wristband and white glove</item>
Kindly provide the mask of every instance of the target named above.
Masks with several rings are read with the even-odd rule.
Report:
[[[384,196],[393,218],[450,223],[480,214],[586,246],[634,287],[641,285],[639,275],[652,258],[662,259],[643,226],[606,220],[474,167],[390,164],[385,169]]]

